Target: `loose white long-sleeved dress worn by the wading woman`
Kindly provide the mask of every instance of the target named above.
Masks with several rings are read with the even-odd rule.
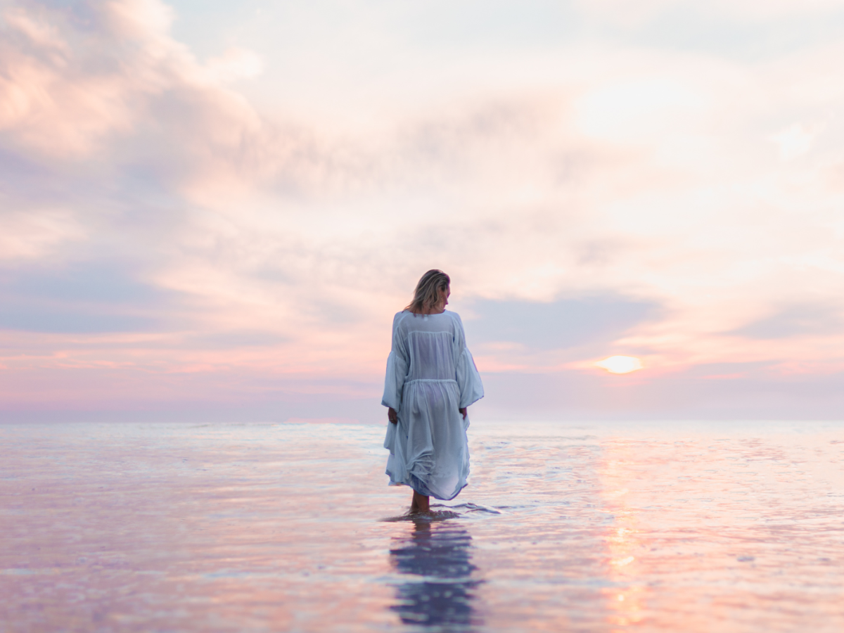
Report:
[[[398,412],[398,425],[387,423],[384,440],[390,451],[390,484],[454,499],[469,474],[469,421],[457,409],[483,397],[484,386],[457,313],[399,312],[392,320],[392,351],[381,400]]]

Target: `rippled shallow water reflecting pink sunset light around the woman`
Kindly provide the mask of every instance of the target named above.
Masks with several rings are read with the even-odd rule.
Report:
[[[383,432],[0,425],[0,631],[844,630],[842,424],[476,422],[416,521]]]

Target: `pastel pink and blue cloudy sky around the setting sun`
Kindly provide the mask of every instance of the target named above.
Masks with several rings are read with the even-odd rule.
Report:
[[[0,0],[0,419],[383,422],[430,268],[473,419],[841,419],[841,59],[841,0]]]

